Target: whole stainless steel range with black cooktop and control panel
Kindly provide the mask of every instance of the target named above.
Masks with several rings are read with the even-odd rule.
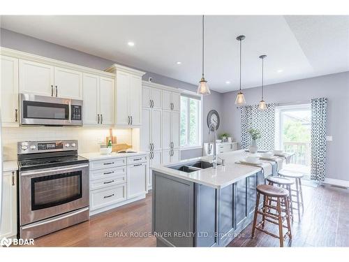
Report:
[[[77,140],[17,143],[19,237],[38,238],[89,219],[89,161]]]

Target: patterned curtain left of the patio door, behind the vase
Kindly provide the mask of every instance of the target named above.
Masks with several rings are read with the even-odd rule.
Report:
[[[275,104],[267,104],[267,109],[260,110],[258,105],[241,107],[241,148],[248,149],[251,136],[248,129],[258,129],[262,138],[257,141],[258,150],[274,150],[275,138]]]

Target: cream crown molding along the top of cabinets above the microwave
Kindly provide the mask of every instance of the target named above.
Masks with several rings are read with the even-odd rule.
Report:
[[[64,68],[68,68],[71,70],[81,71],[83,73],[92,73],[94,75],[105,76],[107,78],[115,78],[114,73],[109,73],[109,72],[97,70],[94,68],[89,68],[87,66],[80,66],[77,64],[71,64],[71,63],[68,63],[65,61],[59,61],[59,60],[51,59],[51,58],[47,58],[47,57],[41,57],[41,56],[36,55],[36,54],[29,54],[27,52],[22,52],[22,51],[10,49],[10,48],[0,47],[0,54],[6,55],[8,57],[15,57],[17,59],[25,59],[25,60],[29,60],[29,61],[35,61],[38,63],[50,64],[52,66],[64,67]]]

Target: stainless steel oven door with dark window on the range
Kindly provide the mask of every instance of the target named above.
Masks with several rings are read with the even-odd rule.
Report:
[[[20,226],[88,205],[88,163],[20,172]]]

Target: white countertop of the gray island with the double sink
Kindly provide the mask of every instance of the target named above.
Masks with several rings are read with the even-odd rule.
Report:
[[[151,169],[158,171],[160,173],[165,173],[167,175],[172,175],[174,177],[178,177],[184,180],[188,180],[191,182],[195,182],[198,184],[204,184],[208,187],[214,187],[216,189],[221,189],[223,187],[227,187],[230,184],[234,184],[235,182],[242,180],[244,177],[248,177],[249,175],[253,175],[255,173],[258,173],[258,171],[262,170],[260,167],[256,166],[244,166],[238,163],[235,163],[239,160],[243,160],[248,155],[250,155],[249,152],[245,152],[244,150],[238,150],[233,152],[226,152],[223,154],[217,154],[218,157],[221,157],[225,159],[225,166],[217,166],[216,169],[214,168],[207,168],[203,170],[198,170],[192,173],[185,173],[179,170],[174,170],[171,168],[167,168],[165,166],[154,166]],[[253,154],[258,155],[258,154]],[[195,159],[186,159],[183,161],[179,161],[178,163],[173,163],[168,166],[177,166],[179,164],[195,161],[195,160],[204,160],[204,161],[210,161],[212,160],[211,156],[207,157],[197,157]],[[278,162],[278,168],[279,170],[283,166],[284,159],[278,158],[276,159]],[[220,163],[221,160],[218,159],[218,163]],[[265,177],[272,174],[272,165],[269,161],[263,161],[262,160],[262,167],[265,172]]]

